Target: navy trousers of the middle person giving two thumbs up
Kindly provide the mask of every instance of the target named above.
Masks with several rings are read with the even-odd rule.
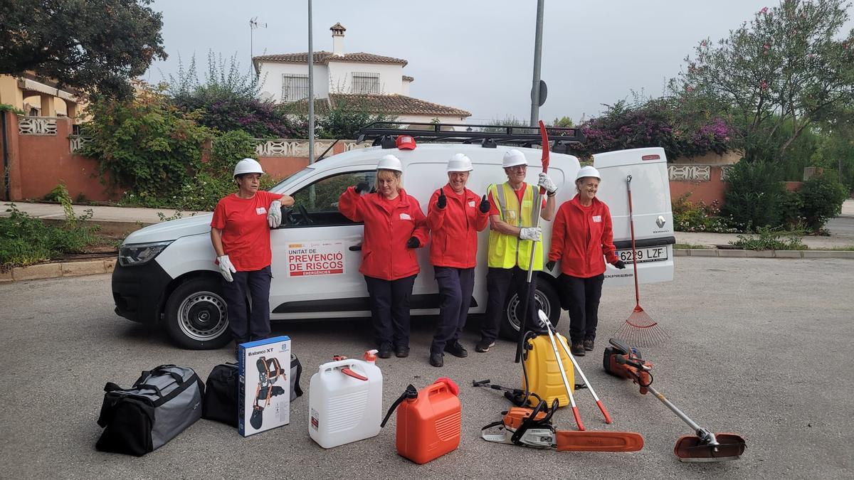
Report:
[[[471,291],[475,288],[474,268],[454,268],[453,266],[434,266],[436,284],[439,284],[439,322],[431,354],[441,354],[446,343],[459,340],[469,315]]]

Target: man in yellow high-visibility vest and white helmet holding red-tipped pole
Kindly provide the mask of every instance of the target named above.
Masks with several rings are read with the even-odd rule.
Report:
[[[489,195],[489,249],[486,277],[488,300],[486,318],[481,325],[481,340],[477,342],[477,352],[487,352],[494,346],[498,337],[501,315],[508,290],[518,295],[521,303],[528,296],[528,312],[517,311],[517,315],[527,314],[528,319],[536,319],[536,272],[542,270],[542,231],[535,226],[534,206],[544,202],[541,211],[542,220],[554,218],[554,195],[558,187],[546,173],[540,173],[536,185],[525,183],[528,161],[518,149],[509,149],[501,162],[507,181],[503,184],[491,184]],[[542,187],[547,191],[547,200],[540,195]],[[528,285],[528,269],[534,251],[533,275]],[[519,324],[522,324],[520,319]]]

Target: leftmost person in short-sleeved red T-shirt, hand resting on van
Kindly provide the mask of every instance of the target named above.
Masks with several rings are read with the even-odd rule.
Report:
[[[228,325],[237,345],[270,335],[270,229],[282,223],[282,206],[294,199],[258,190],[260,163],[244,158],[234,167],[237,193],[225,196],[213,209],[211,243],[216,251]],[[246,298],[252,299],[247,317]]]

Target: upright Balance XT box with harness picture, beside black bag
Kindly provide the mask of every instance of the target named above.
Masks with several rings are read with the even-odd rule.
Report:
[[[290,423],[290,337],[240,344],[237,430],[250,436]]]

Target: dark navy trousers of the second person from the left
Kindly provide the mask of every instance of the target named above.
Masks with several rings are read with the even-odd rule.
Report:
[[[365,276],[371,296],[371,318],[377,347],[409,347],[409,299],[416,275],[383,280]]]

